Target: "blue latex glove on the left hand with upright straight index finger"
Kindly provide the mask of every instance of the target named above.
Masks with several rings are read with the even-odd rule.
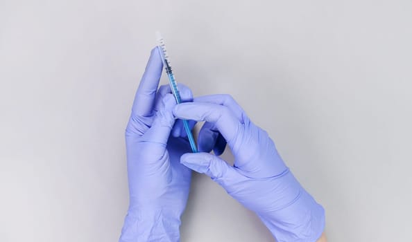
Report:
[[[189,194],[191,170],[179,160],[191,149],[187,138],[180,137],[185,136],[182,122],[173,127],[176,102],[170,87],[157,91],[163,66],[158,51],[151,52],[126,128],[130,204],[122,242],[179,241],[180,216]],[[179,88],[182,100],[192,99],[187,87]],[[171,131],[175,137],[169,138]]]

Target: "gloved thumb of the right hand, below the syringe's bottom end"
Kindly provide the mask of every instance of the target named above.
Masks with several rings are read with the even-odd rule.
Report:
[[[210,153],[185,153],[180,158],[180,163],[194,171],[210,176],[212,180],[215,180],[223,187],[228,181],[239,175],[234,167],[230,166],[225,160]]]

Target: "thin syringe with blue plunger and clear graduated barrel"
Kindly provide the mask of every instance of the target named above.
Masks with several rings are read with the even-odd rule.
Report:
[[[162,38],[162,35],[160,35],[160,32],[156,32],[156,39],[157,39],[157,46],[159,46],[160,48],[160,55],[162,56],[164,69],[166,70],[166,74],[169,77],[169,84],[170,84],[171,90],[173,92],[173,95],[175,96],[176,102],[180,104],[182,103],[182,98],[180,97],[178,84],[176,84],[175,75],[173,75],[171,64],[169,61],[169,56],[167,55],[167,52],[166,52],[166,45],[164,44],[164,39]],[[187,122],[187,120],[182,120],[182,121],[183,121],[184,130],[187,133],[187,138],[189,139],[191,151],[196,153],[198,152],[198,149],[196,147],[196,143],[194,141],[193,135],[189,128],[189,123]]]

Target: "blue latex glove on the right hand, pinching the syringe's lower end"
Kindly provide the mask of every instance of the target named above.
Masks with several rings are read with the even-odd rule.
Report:
[[[186,153],[180,162],[207,174],[239,203],[257,213],[275,239],[316,241],[325,226],[323,207],[295,179],[266,131],[250,122],[229,95],[197,97],[178,104],[177,118],[206,121],[198,149],[222,153],[225,142],[234,155],[230,166],[210,153]]]

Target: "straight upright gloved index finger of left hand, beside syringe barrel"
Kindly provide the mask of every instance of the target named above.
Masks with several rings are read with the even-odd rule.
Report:
[[[153,105],[159,86],[160,77],[162,76],[163,62],[160,57],[158,47],[151,51],[146,69],[136,91],[135,101],[132,106],[132,115],[148,116],[153,113]]]

